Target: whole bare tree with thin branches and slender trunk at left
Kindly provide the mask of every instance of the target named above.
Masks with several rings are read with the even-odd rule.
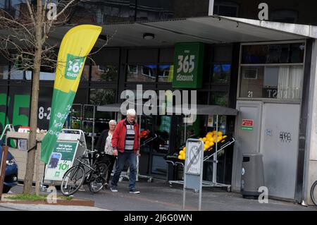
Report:
[[[41,68],[55,68],[57,44],[50,44],[50,32],[65,25],[80,0],[20,0],[15,7],[0,8],[0,47],[13,69],[32,71],[30,137],[23,193],[30,193],[37,145],[37,108]],[[10,1],[11,2],[11,1]],[[10,4],[9,4],[10,5]],[[103,45],[103,47],[106,44]]]

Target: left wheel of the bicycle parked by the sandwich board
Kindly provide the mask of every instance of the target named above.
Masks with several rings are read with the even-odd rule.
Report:
[[[85,169],[82,166],[73,166],[63,176],[61,193],[65,196],[73,195],[85,179]]]

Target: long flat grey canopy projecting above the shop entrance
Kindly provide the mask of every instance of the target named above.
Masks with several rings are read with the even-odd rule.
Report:
[[[317,27],[292,23],[204,16],[170,20],[137,21],[102,25],[102,35],[110,37],[108,47],[173,46],[177,42],[232,43],[267,42],[317,38]],[[60,28],[61,35],[69,28]],[[149,32],[154,39],[143,39]],[[61,36],[62,37],[62,36]],[[102,40],[97,45],[104,44]]]

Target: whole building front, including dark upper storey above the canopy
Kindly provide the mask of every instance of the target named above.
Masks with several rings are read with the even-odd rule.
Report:
[[[0,7],[18,16],[23,4],[4,0],[0,1]],[[313,172],[317,154],[312,117],[316,111],[313,103],[316,93],[310,91],[316,82],[317,37],[311,25],[316,25],[317,19],[312,10],[309,1],[80,3],[73,8],[68,23],[101,25],[102,34],[111,39],[106,48],[87,60],[72,120],[66,126],[82,128],[91,142],[89,107],[92,105],[123,102],[120,97],[123,90],[137,90],[137,85],[142,85],[144,91],[176,90],[175,44],[201,42],[204,43],[204,66],[199,74],[202,82],[200,87],[192,89],[197,90],[197,104],[215,104],[239,111],[237,117],[219,119],[220,130],[234,136],[236,142],[218,159],[217,181],[239,191],[242,154],[261,152],[269,195],[309,202],[309,187],[317,178]],[[259,18],[267,23],[260,23]],[[60,39],[61,34],[57,35]],[[144,39],[144,34],[154,38]],[[6,124],[15,128],[27,126],[32,71],[19,71],[13,63],[1,58],[0,72],[0,131]],[[40,129],[49,126],[53,85],[54,71],[42,71]],[[114,112],[96,112],[97,137],[116,116]],[[213,130],[215,124],[209,124],[206,116],[198,116],[185,133],[181,119],[181,116],[142,116],[142,126],[155,130],[159,138],[142,148],[140,174],[168,180],[182,177],[182,170],[168,166],[163,157],[175,152],[185,137],[201,136]],[[242,129],[246,119],[254,121],[251,130]],[[212,169],[212,162],[205,162],[204,180],[212,180]]]

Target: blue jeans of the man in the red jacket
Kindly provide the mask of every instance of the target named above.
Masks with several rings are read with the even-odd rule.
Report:
[[[129,189],[135,189],[135,180],[137,179],[137,154],[135,152],[119,152],[118,151],[118,158],[116,162],[116,171],[113,174],[113,178],[111,181],[112,187],[117,187],[118,181],[120,178],[120,174],[123,171],[125,166],[125,162],[128,160],[129,167],[130,167],[130,174],[129,174]]]

